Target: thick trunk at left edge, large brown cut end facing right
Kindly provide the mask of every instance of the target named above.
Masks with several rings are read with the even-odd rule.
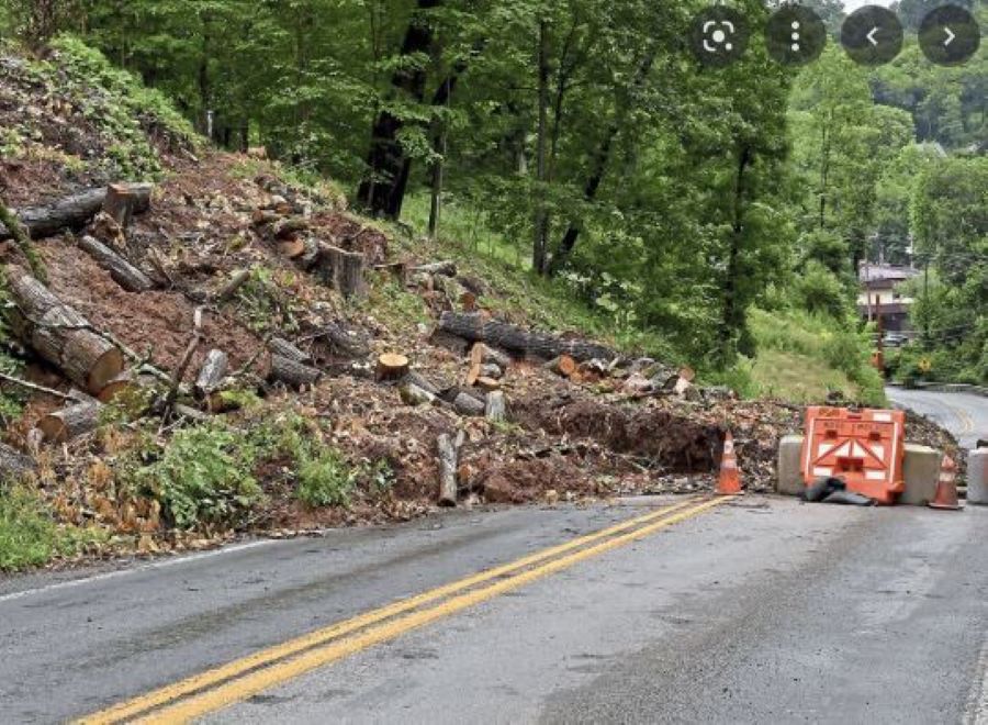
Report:
[[[98,335],[72,308],[23,270],[8,269],[15,309],[11,327],[41,357],[93,395],[123,372],[123,353]]]

